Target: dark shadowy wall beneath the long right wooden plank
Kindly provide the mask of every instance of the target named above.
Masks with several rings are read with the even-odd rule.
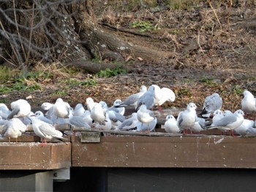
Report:
[[[73,167],[53,191],[256,191],[255,169]]]

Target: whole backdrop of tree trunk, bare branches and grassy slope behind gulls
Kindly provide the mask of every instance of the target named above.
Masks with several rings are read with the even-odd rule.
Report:
[[[171,88],[167,107],[256,94],[255,0],[0,1],[0,102],[73,107]]]

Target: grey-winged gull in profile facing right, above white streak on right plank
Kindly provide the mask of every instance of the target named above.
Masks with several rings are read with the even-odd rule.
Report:
[[[244,121],[244,112],[242,110],[236,110],[233,114],[227,115],[217,122],[211,124],[210,128],[218,128],[220,131],[230,131],[233,135],[233,130],[241,126]]]

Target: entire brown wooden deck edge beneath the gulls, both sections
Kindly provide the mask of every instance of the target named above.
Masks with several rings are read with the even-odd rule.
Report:
[[[127,132],[126,132],[127,133]],[[256,137],[82,131],[41,147],[33,135],[0,142],[0,169],[67,167],[256,168]]]

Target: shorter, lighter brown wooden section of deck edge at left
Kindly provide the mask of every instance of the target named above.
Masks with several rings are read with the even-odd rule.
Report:
[[[59,169],[71,166],[71,144],[0,142],[0,169]]]

